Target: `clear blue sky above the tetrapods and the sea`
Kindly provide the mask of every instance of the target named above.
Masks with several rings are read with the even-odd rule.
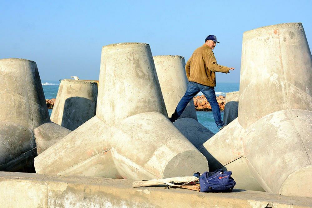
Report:
[[[217,82],[239,82],[243,32],[302,22],[312,45],[312,1],[1,1],[0,58],[37,62],[42,80],[98,79],[102,46],[146,42],[156,55],[186,61],[209,34]],[[126,70],[126,69],[125,69]]]

